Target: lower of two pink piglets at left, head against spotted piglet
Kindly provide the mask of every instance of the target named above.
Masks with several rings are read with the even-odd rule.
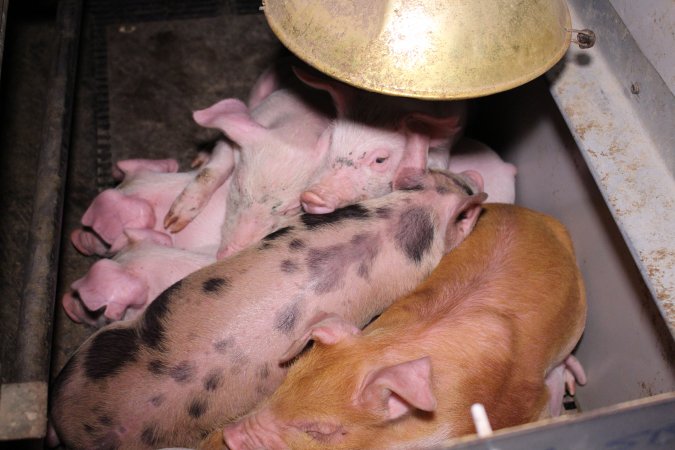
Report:
[[[201,252],[173,247],[171,238],[148,229],[127,229],[111,259],[95,262],[63,296],[73,321],[101,327],[139,315],[166,288],[215,262],[217,245]]]

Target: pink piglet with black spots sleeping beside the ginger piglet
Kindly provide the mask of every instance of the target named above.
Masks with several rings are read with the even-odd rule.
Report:
[[[475,172],[411,171],[394,188],[297,216],[93,334],[52,387],[50,435],[70,449],[189,447],[249,412],[319,311],[364,326],[470,233],[486,197]]]

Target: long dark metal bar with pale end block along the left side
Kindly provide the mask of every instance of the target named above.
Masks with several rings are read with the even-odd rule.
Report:
[[[41,438],[46,433],[46,386],[49,383],[54,299],[81,19],[81,0],[59,2],[56,18],[59,41],[51,67],[42,147],[38,155],[28,261],[18,317],[19,335],[15,354],[19,357],[13,378],[18,382],[16,389],[30,387],[33,393],[37,392],[40,398],[32,402],[42,407],[37,413],[31,411],[23,415],[26,421],[32,423],[30,427],[15,424],[10,430],[3,430],[3,439]],[[42,383],[43,388],[36,390],[36,383]],[[14,395],[18,398],[22,396],[21,392]],[[10,400],[11,397],[6,395],[0,398],[0,411],[9,409],[6,402]],[[0,422],[9,425],[4,420]]]

